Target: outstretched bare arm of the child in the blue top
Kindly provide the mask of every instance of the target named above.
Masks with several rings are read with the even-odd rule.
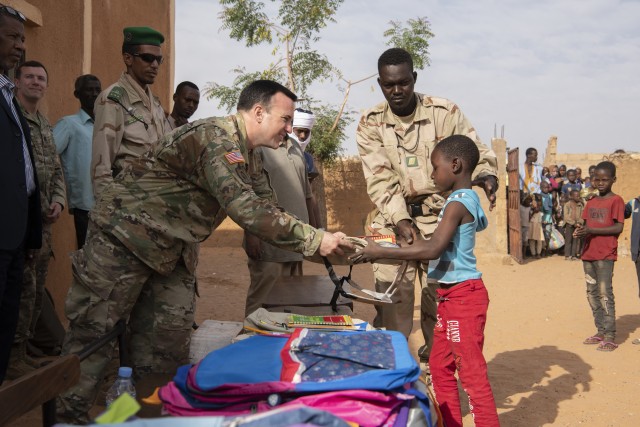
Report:
[[[370,242],[364,249],[352,255],[356,262],[370,262],[377,259],[397,259],[428,261],[437,259],[447,248],[460,224],[473,222],[473,216],[462,203],[449,203],[438,228],[429,240],[417,240],[400,248],[385,248]]]

